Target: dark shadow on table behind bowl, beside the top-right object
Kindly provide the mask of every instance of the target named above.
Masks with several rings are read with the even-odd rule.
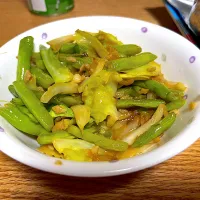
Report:
[[[145,8],[149,14],[151,14],[154,18],[156,18],[161,26],[173,30],[175,32],[179,32],[176,24],[171,18],[170,14],[167,12],[165,7],[156,7],[156,8]]]

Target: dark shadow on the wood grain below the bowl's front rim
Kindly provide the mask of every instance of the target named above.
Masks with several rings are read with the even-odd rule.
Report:
[[[39,183],[52,199],[54,197],[55,199],[105,199],[106,197],[110,200],[127,197],[128,191],[132,191],[134,186],[140,187],[139,180],[144,179],[144,172],[106,178],[78,178],[44,172],[37,174]],[[127,191],[127,194],[124,194],[124,191]]]

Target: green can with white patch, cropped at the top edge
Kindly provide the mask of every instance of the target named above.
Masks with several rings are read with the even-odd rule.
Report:
[[[32,13],[44,16],[60,15],[74,7],[74,0],[28,0]]]

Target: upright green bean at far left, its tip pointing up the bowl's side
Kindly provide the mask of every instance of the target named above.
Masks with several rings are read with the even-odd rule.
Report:
[[[30,69],[33,51],[33,37],[28,36],[20,40],[17,64],[17,80],[23,80],[24,74]]]

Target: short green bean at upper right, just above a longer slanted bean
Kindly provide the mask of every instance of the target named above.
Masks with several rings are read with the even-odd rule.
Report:
[[[141,47],[134,44],[116,45],[114,48],[125,56],[134,56],[142,51]]]

